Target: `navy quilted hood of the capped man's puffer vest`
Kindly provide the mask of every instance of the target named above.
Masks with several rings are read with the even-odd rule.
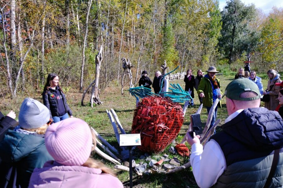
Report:
[[[223,131],[251,150],[274,150],[283,147],[283,121],[278,112],[266,108],[247,108],[231,121]]]

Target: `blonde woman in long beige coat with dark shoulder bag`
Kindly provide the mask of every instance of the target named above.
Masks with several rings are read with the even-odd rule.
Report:
[[[277,75],[276,70],[269,69],[267,71],[267,76],[269,77],[269,81],[267,83],[267,89],[264,91],[264,95],[269,95],[269,102],[265,102],[264,107],[269,110],[275,110],[275,108],[279,105],[278,93],[280,90],[280,86],[275,86],[275,83],[280,83],[281,80]]]

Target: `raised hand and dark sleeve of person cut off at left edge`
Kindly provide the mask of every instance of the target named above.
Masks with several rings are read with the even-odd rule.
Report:
[[[14,128],[19,123],[15,120],[16,114],[13,110],[11,110],[7,116],[4,116],[2,112],[0,112],[0,141],[3,139],[4,134],[10,128]],[[1,159],[0,159],[1,160]]]

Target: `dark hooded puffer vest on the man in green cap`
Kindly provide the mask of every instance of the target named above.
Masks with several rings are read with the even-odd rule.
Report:
[[[248,108],[210,139],[220,146],[226,170],[214,187],[263,187],[275,149],[280,156],[270,187],[283,186],[283,121],[278,112]]]

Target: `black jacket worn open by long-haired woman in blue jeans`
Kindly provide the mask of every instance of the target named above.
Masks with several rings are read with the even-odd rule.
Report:
[[[73,112],[71,111],[69,105],[67,104],[67,100],[66,100],[64,93],[57,86],[56,86],[56,90],[58,90],[63,97],[64,107],[65,107],[66,112],[68,112],[68,114],[70,116],[72,116]],[[59,114],[58,114],[57,99],[56,99],[56,97],[51,97],[52,94],[53,94],[52,91],[44,90],[43,93],[42,93],[42,99],[43,99],[43,104],[49,109],[50,119],[53,120],[52,117],[53,116],[59,116]]]

